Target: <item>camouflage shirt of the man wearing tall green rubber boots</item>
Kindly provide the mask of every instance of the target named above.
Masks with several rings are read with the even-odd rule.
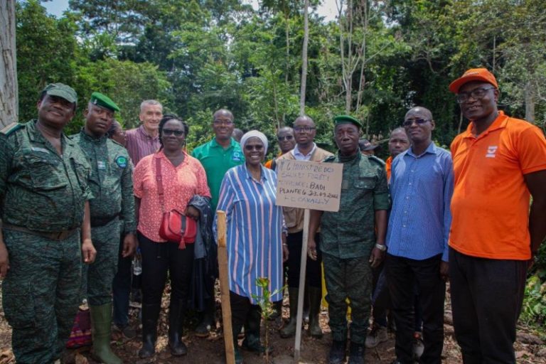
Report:
[[[92,137],[83,129],[73,139],[91,166],[89,186],[94,197],[90,201],[91,225],[94,219],[119,215],[123,231],[135,232],[133,167],[127,149],[106,136]]]

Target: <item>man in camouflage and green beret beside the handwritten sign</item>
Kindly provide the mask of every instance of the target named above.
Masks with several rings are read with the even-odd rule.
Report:
[[[337,213],[312,210],[308,255],[316,259],[314,235],[321,227],[320,250],[328,295],[328,315],[333,336],[329,363],[345,363],[347,303],[350,299],[349,364],[364,363],[364,343],[370,316],[372,267],[385,252],[389,193],[385,166],[358,148],[360,122],[341,115],[334,119],[339,152],[326,163],[342,163],[341,202]]]

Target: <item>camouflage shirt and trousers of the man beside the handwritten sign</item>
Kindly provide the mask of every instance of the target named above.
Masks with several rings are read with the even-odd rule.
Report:
[[[375,210],[389,208],[382,161],[373,156],[331,156],[326,163],[343,163],[341,203],[337,213],[321,218],[324,278],[329,325],[334,341],[347,340],[346,298],[350,299],[350,341],[363,344],[370,316],[372,271],[368,259],[375,245]]]

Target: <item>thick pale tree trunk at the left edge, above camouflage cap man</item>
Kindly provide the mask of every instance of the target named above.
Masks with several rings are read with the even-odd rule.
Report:
[[[0,1],[0,125],[18,119],[15,0]]]

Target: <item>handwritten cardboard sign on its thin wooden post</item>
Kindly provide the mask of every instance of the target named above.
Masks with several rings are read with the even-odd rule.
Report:
[[[277,205],[305,208],[304,232],[301,242],[299,268],[298,314],[296,316],[296,343],[294,360],[299,360],[301,347],[301,321],[304,312],[305,272],[307,265],[307,241],[309,240],[309,209],[339,210],[343,164],[316,163],[277,159]]]

